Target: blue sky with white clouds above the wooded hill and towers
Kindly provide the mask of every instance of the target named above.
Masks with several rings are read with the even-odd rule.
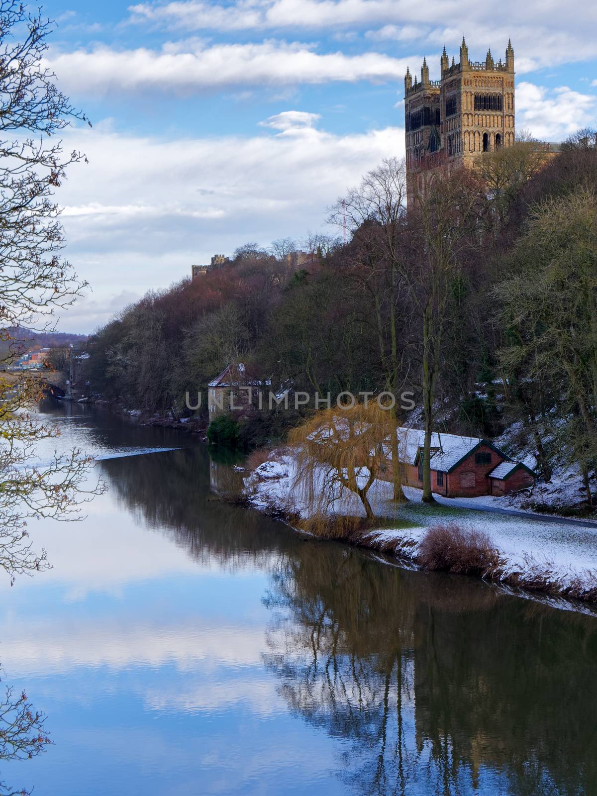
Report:
[[[404,153],[403,78],[511,37],[517,128],[558,141],[597,119],[597,7],[563,0],[49,2],[49,64],[92,119],[60,189],[90,332],[192,263],[326,229],[326,207]]]

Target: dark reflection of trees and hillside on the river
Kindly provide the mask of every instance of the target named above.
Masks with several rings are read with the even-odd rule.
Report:
[[[214,501],[203,449],[102,466],[190,555],[271,572],[265,665],[338,738],[349,792],[597,793],[597,619]]]

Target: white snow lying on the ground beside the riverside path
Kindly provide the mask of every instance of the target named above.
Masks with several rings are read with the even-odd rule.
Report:
[[[257,467],[244,479],[248,499],[267,511],[309,515],[309,505],[300,488],[296,486],[296,467],[291,455],[278,455]],[[388,517],[390,527],[374,530],[371,539],[396,541],[400,547],[416,545],[431,525],[455,522],[464,529],[477,529],[488,533],[490,539],[507,560],[507,572],[542,572],[550,574],[563,585],[576,578],[595,581],[597,573],[597,524],[582,521],[558,520],[529,514],[515,516],[499,513],[509,509],[504,498],[495,496],[451,499],[435,495],[436,505],[421,501],[421,490],[404,487],[408,497],[406,505],[392,502],[392,484],[374,482],[369,491],[373,510],[379,517]],[[471,509],[485,509],[474,511]],[[489,510],[487,510],[489,509]],[[361,502],[352,493],[344,491],[330,504],[330,512],[365,516]],[[392,529],[392,519],[396,529]]]

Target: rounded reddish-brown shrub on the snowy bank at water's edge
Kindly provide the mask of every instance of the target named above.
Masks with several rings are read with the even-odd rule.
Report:
[[[501,563],[486,533],[464,530],[454,522],[427,529],[419,543],[416,560],[427,569],[467,575],[485,575]]]

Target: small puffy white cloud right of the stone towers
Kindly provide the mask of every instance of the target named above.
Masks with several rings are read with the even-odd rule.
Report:
[[[520,83],[516,91],[517,128],[529,129],[538,139],[561,141],[580,127],[595,124],[597,97],[568,86],[548,89]]]

